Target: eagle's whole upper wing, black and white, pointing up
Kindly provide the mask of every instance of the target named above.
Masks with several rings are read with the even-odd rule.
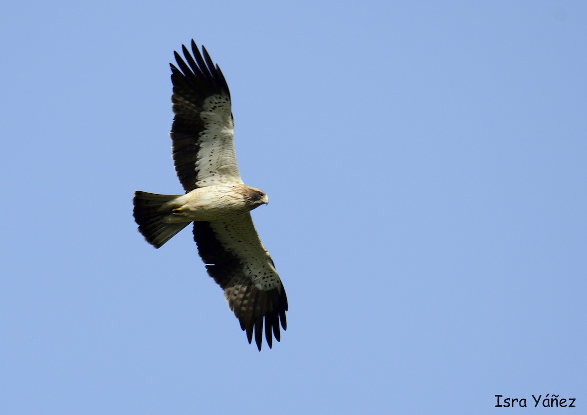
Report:
[[[242,183],[234,151],[234,122],[228,85],[218,65],[191,41],[193,57],[182,46],[185,62],[172,63],[173,161],[184,190],[222,183]],[[187,63],[186,63],[187,62]]]

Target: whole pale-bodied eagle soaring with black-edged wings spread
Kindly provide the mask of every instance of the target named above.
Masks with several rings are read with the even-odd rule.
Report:
[[[244,184],[234,150],[230,92],[218,65],[191,41],[170,63],[173,83],[171,126],[173,161],[185,194],[134,193],[134,220],[147,242],[160,248],[188,224],[208,274],[261,350],[286,329],[288,299],[271,255],[263,246],[250,211],[268,203],[267,195]],[[186,63],[187,62],[187,63]],[[265,322],[265,330],[263,323]],[[273,335],[271,334],[273,332]]]

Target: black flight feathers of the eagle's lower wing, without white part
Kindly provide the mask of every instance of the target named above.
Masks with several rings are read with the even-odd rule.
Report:
[[[255,343],[261,350],[264,322],[265,339],[269,348],[273,340],[271,332],[279,342],[280,320],[282,328],[287,329],[285,312],[288,309],[288,299],[284,287],[281,286],[281,292],[277,288],[270,291],[258,289],[251,277],[243,272],[244,264],[241,259],[222,247],[208,222],[194,222],[194,240],[200,257],[207,264],[208,274],[224,289],[228,305],[241,323],[241,329],[246,330],[249,343],[254,332]]]

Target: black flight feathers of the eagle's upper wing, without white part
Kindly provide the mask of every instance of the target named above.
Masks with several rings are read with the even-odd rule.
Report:
[[[204,124],[200,119],[200,112],[204,100],[214,94],[224,93],[230,99],[228,85],[218,65],[214,65],[210,55],[202,46],[204,56],[198,50],[198,46],[191,41],[191,50],[182,46],[185,61],[179,53],[176,56],[177,69],[173,63],[171,66],[171,82],[173,82],[173,118],[171,126],[171,140],[173,140],[173,161],[176,166],[177,177],[186,192],[196,188],[198,171],[195,161],[200,150],[198,139],[200,132],[204,130]],[[194,59],[195,58],[195,59]]]

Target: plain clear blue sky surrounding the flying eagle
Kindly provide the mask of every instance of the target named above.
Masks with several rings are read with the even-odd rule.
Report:
[[[22,1],[0,32],[0,413],[587,410],[585,2]],[[192,38],[271,200],[260,353],[191,232],[156,250],[131,215],[181,193]]]

